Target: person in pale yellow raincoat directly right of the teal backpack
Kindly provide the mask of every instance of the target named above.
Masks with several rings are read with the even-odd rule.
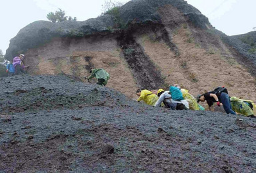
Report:
[[[178,88],[181,88],[178,84],[175,84],[173,86],[176,86]],[[197,103],[197,100],[195,100],[195,97],[189,93],[189,90],[186,90],[184,88],[181,88],[182,96],[187,102],[189,102],[189,109],[191,110],[204,110],[204,108],[200,108],[199,104]]]

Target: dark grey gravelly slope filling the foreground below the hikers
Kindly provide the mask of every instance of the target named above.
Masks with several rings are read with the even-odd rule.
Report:
[[[253,118],[153,108],[65,75],[0,87],[3,172],[256,171]]]

